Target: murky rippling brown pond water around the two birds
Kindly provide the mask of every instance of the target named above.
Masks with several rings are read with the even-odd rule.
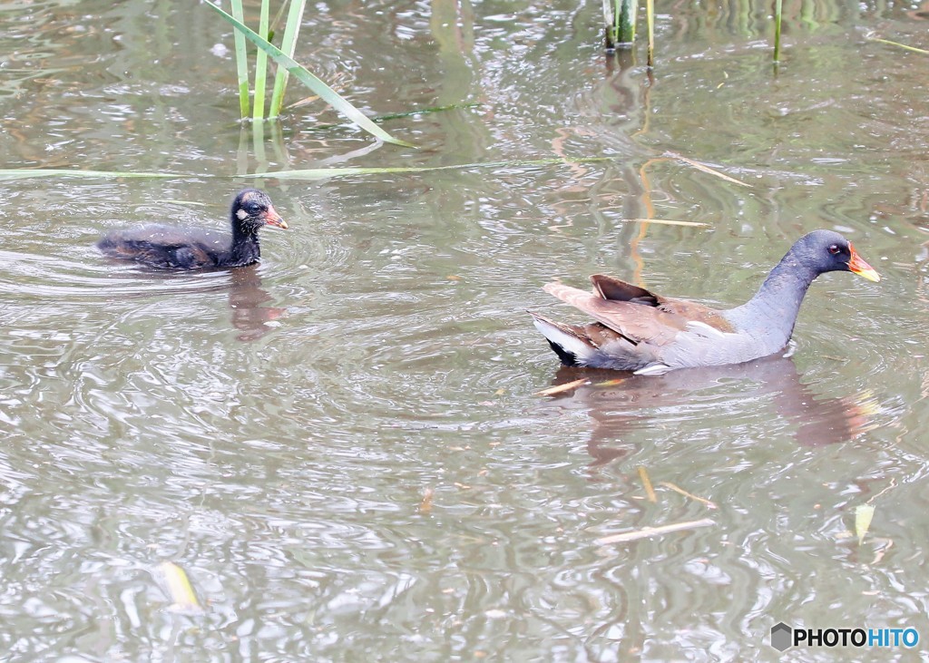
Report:
[[[767,7],[660,3],[651,82],[599,11],[316,4],[300,59],[360,108],[479,105],[386,123],[419,150],[310,106],[255,150],[205,7],[0,6],[3,168],[186,174],[2,182],[0,660],[774,659],[780,620],[927,651],[929,69],[865,39],[926,47],[924,9],[789,4],[775,72]],[[612,160],[233,177],[552,156]],[[292,228],[259,267],[93,247],[245,185]],[[732,305],[814,228],[884,280],[818,280],[794,357],[534,395],[578,377],[524,312],[571,317],[548,280]]]

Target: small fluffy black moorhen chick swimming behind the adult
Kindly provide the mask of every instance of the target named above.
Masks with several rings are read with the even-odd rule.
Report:
[[[268,195],[258,189],[243,189],[235,197],[229,219],[231,237],[201,228],[145,226],[111,230],[97,242],[97,247],[112,257],[137,260],[151,267],[243,267],[261,257],[259,229],[287,228]]]

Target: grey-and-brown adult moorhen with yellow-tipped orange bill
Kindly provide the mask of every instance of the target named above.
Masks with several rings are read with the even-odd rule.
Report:
[[[747,303],[726,310],[661,297],[631,283],[595,275],[594,293],[549,283],[546,293],[595,318],[568,325],[530,311],[536,329],[566,366],[634,370],[739,364],[766,357],[790,341],[806,289],[820,274],[880,275],[842,235],[816,230],[800,238]]]

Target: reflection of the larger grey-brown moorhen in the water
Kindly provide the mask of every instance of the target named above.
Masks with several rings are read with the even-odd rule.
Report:
[[[720,388],[727,383],[738,384],[732,397],[737,407],[769,407],[795,424],[794,438],[808,447],[846,442],[870,430],[870,415],[876,409],[873,397],[867,395],[817,397],[800,382],[792,360],[784,357],[674,370],[660,376],[561,367],[552,383],[568,384],[581,379],[586,383],[556,394],[546,407],[587,410],[595,424],[587,443],[592,467],[620,460],[635,451],[637,444],[626,442],[629,434],[658,422],[660,413],[667,414],[669,409],[686,413],[700,396],[719,404]],[[733,390],[726,392],[732,394]]]

